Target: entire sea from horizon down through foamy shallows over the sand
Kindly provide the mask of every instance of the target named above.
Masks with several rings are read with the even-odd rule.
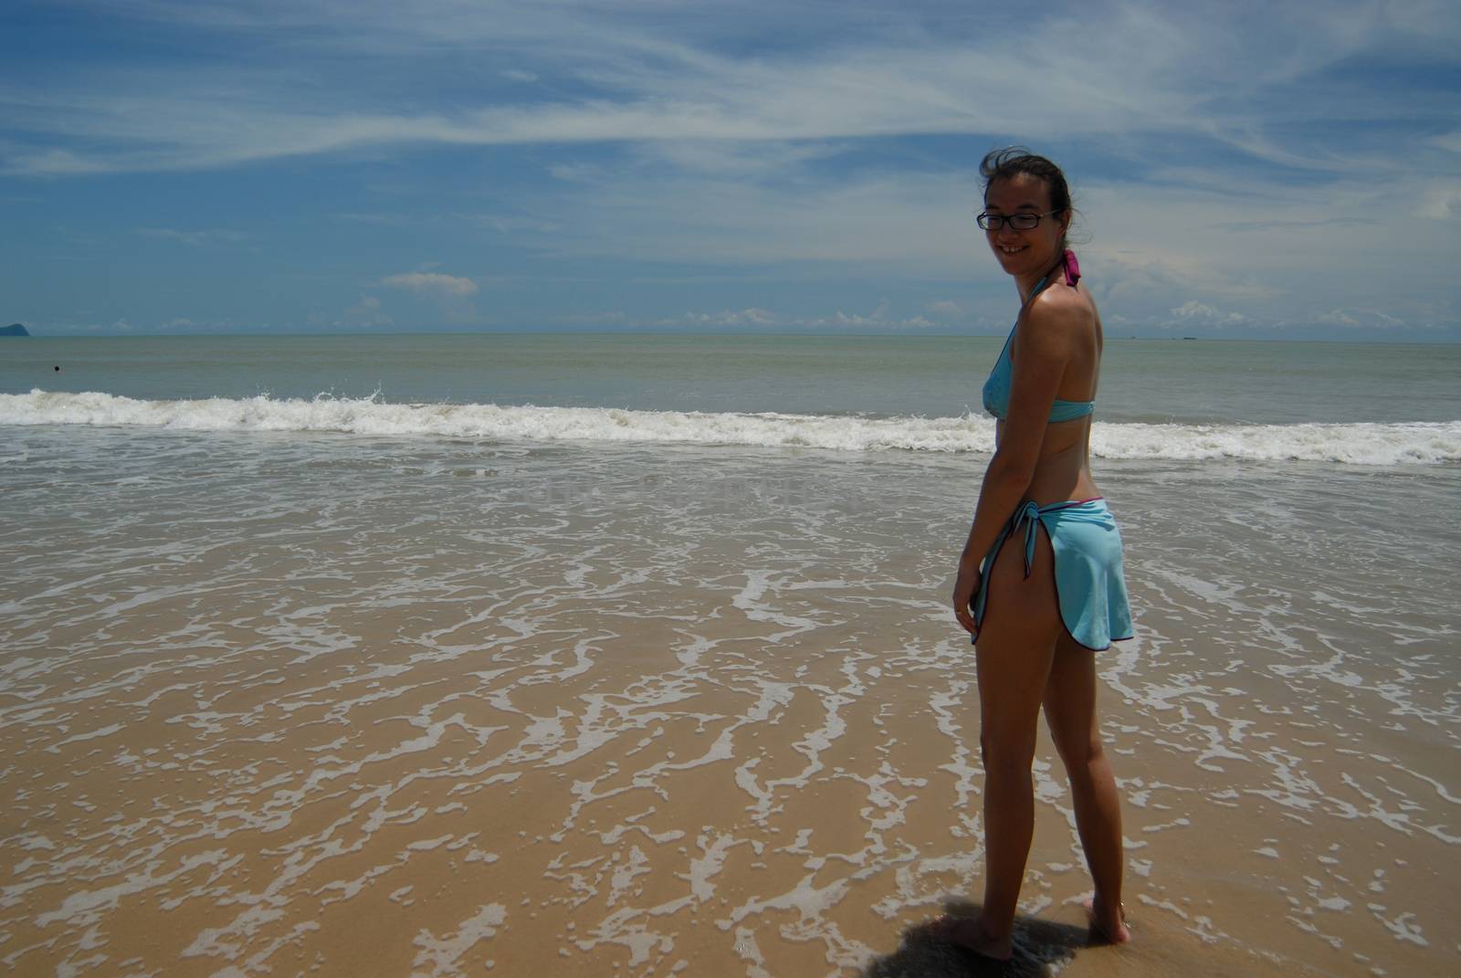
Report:
[[[896,974],[1002,342],[0,339],[0,963]],[[1112,336],[1091,456],[1110,953],[1461,972],[1461,346]],[[1124,974],[1042,750],[1020,953]]]

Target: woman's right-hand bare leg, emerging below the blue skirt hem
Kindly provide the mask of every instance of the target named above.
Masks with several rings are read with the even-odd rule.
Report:
[[[1096,653],[1062,632],[1045,687],[1045,719],[1065,762],[1075,801],[1075,830],[1096,884],[1091,927],[1106,940],[1121,943],[1129,937],[1121,909],[1126,854],[1121,838],[1121,797],[1096,715]]]

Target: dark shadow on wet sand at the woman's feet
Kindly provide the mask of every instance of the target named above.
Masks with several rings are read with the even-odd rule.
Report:
[[[979,905],[963,901],[945,906],[955,917],[974,917]],[[992,960],[929,933],[929,925],[903,931],[903,943],[863,969],[863,978],[1048,978],[1052,965],[1064,965],[1090,944],[1084,927],[1033,917],[1014,921],[1014,958]]]

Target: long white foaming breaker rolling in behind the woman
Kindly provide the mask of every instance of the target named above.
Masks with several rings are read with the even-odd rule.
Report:
[[[0,395],[0,424],[137,425],[193,431],[340,431],[527,441],[812,447],[844,452],[991,452],[993,421],[950,418],[630,411],[495,403],[390,403],[377,398],[137,401],[108,393]],[[1461,462],[1461,421],[1359,424],[1128,424],[1097,421],[1107,459],[1306,460],[1349,465]]]

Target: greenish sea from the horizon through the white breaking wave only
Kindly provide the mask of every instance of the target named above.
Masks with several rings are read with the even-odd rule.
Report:
[[[0,424],[989,452],[967,336],[23,339]],[[1109,459],[1461,460],[1461,346],[1112,339]]]

